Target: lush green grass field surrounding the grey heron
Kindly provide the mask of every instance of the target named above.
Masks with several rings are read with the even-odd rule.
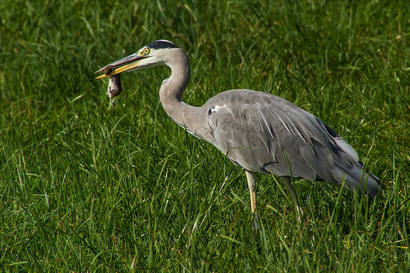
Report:
[[[386,185],[371,200],[301,180],[298,225],[260,175],[253,241],[244,171],[158,98],[166,67],[94,71],[168,39],[183,99],[273,93],[310,111]],[[0,271],[409,272],[410,2],[0,2]]]

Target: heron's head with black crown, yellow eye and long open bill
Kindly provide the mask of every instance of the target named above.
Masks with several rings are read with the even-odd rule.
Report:
[[[105,72],[105,74],[96,77],[96,79],[112,76],[125,71],[166,65],[166,63],[172,59],[173,55],[180,54],[180,52],[182,52],[182,50],[170,41],[154,41],[142,47],[138,52],[121,60],[114,61],[112,64],[96,71],[95,73]]]

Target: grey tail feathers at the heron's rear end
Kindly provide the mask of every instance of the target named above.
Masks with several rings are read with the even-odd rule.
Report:
[[[380,180],[367,168],[364,168],[364,164],[361,161],[355,162],[353,168],[346,168],[345,166],[335,162],[335,168],[333,170],[333,175],[339,183],[343,183],[345,180],[345,187],[351,189],[352,191],[357,191],[360,187],[360,193],[364,190],[364,185],[366,185],[365,193],[371,197],[376,197],[379,193],[383,192],[384,185],[381,184]],[[360,178],[361,181],[360,181]]]

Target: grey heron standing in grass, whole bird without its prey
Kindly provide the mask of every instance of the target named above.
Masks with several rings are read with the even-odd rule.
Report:
[[[170,41],[148,43],[137,53],[115,61],[96,73],[97,79],[140,68],[166,65],[171,77],[162,82],[159,98],[166,113],[194,136],[212,143],[233,163],[245,169],[251,210],[257,218],[257,173],[282,177],[301,221],[303,210],[291,177],[342,184],[375,197],[384,188],[359,160],[357,152],[326,123],[293,103],[268,93],[229,90],[202,107],[182,101],[191,69],[187,55]],[[110,69],[108,69],[110,68]],[[107,71],[109,71],[107,73]],[[254,221],[252,228],[257,228]]]

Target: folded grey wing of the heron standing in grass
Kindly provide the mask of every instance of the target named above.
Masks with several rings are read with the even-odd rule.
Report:
[[[326,123],[291,102],[238,89],[220,93],[204,107],[210,107],[208,123],[216,147],[247,171],[290,176],[290,166],[294,177],[336,184],[345,179],[346,187],[358,188],[362,165],[355,150]],[[367,191],[375,195],[380,180],[366,172],[371,185]]]

